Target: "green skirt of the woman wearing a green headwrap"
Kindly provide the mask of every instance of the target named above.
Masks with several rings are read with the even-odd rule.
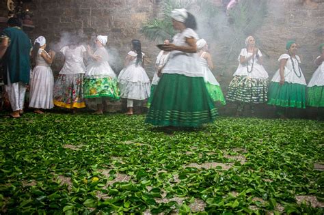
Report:
[[[268,104],[282,107],[306,108],[306,85],[287,83],[280,85],[271,82],[269,86]]]

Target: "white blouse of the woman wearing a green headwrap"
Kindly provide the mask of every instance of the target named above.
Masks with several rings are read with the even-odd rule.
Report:
[[[284,66],[284,81],[288,82],[288,83],[297,83],[300,85],[306,85],[306,80],[305,80],[305,77],[303,76],[303,72],[299,68],[299,63],[301,63],[299,56],[296,55],[296,58],[291,58],[290,55],[283,54],[279,57],[278,61],[280,61],[281,59],[288,59],[286,66]],[[295,71],[297,72],[297,74],[300,77],[298,77],[297,74],[295,74],[294,68],[293,68],[293,63],[291,63],[291,59],[294,62]],[[275,72],[271,81],[272,82],[280,82],[279,70],[277,70],[277,72]]]

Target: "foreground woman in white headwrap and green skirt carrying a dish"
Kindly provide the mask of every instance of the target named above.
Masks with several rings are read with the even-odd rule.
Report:
[[[157,85],[146,122],[154,126],[198,127],[211,122],[217,109],[204,83],[197,54],[198,35],[195,18],[185,9],[172,11],[172,24],[179,31],[173,44],[163,46],[171,51],[165,66],[159,70]]]

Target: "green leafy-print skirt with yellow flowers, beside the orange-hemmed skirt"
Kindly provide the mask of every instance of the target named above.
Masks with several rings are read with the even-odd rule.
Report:
[[[119,100],[120,92],[117,87],[116,78],[84,78],[83,85],[84,98],[108,97],[111,100]]]

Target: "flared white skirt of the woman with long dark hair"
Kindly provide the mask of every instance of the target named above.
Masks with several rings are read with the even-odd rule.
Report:
[[[150,79],[144,68],[131,64],[118,75],[120,97],[145,100],[150,97]]]

